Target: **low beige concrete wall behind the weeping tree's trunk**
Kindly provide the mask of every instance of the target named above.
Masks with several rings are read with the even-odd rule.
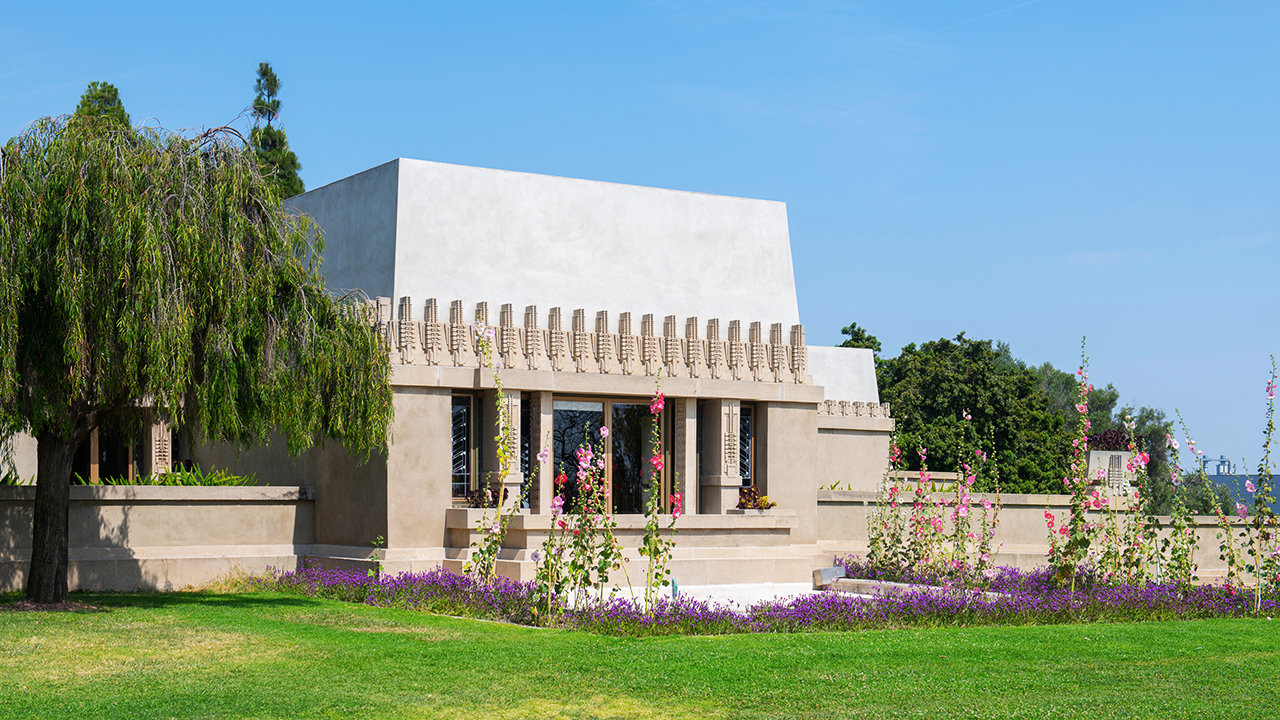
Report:
[[[0,487],[0,591],[26,583],[35,498],[35,487]],[[293,569],[314,542],[314,487],[70,488],[72,589],[178,589],[234,568]]]

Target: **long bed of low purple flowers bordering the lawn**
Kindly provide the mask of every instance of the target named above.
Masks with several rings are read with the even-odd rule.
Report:
[[[983,600],[974,589],[932,587],[877,598],[827,592],[760,602],[746,609],[689,597],[663,597],[646,611],[643,603],[620,597],[586,607],[563,609],[554,620],[535,612],[534,583],[499,578],[493,584],[481,584],[443,568],[383,578],[369,578],[353,570],[303,568],[273,573],[260,579],[259,587],[380,607],[616,635],[1240,618],[1249,615],[1252,601],[1252,593],[1222,585],[1198,585],[1185,591],[1172,584],[1106,585],[1094,582],[1088,571],[1078,579],[1073,592],[1057,587],[1047,569],[1020,571],[1011,568],[1000,569],[989,580],[987,589],[1005,594],[996,600]],[[1280,598],[1263,598],[1263,615],[1275,615],[1277,607]]]

